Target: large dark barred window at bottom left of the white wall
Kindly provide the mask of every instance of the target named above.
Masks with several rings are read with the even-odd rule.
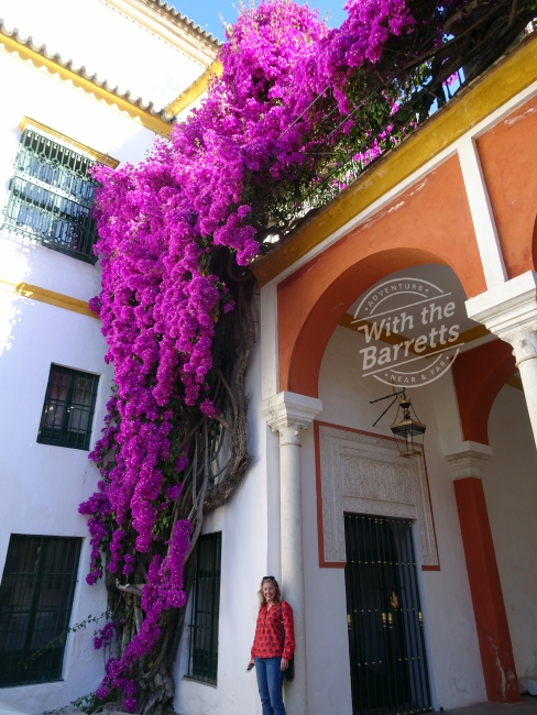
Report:
[[[80,542],[11,535],[0,584],[0,688],[62,679]]]

